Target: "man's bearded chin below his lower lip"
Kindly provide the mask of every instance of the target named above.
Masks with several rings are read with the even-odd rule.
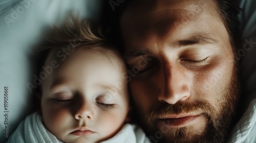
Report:
[[[147,125],[147,127],[150,125]],[[190,122],[174,126],[165,121],[156,121],[148,134],[148,137],[154,142],[223,142],[226,137],[224,127],[216,128],[206,115],[199,115]]]

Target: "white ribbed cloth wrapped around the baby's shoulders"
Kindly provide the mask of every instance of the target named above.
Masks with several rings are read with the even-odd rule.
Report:
[[[15,132],[10,136],[8,143],[35,143],[35,142],[61,142],[42,124],[42,117],[33,113],[21,122]],[[142,129],[135,125],[125,124],[123,128],[112,138],[102,143],[150,143]]]

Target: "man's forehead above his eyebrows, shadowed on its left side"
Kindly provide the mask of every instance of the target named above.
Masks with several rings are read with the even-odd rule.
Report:
[[[127,7],[120,20],[123,38],[130,43],[132,39],[153,38],[152,33],[162,39],[170,38],[171,33],[176,33],[173,36],[178,38],[192,32],[210,31],[212,25],[222,22],[217,5],[211,0],[136,2]],[[128,33],[133,36],[128,36]]]

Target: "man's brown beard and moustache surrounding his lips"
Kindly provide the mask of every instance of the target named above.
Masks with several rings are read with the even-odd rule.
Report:
[[[158,136],[160,142],[224,142],[227,138],[227,133],[236,115],[236,107],[239,99],[239,82],[237,78],[236,68],[231,75],[230,83],[226,86],[225,92],[218,103],[218,109],[213,107],[209,101],[185,102],[179,101],[176,104],[162,103],[157,108],[152,108],[147,111],[144,117],[144,128],[148,132],[148,136],[156,136],[156,133],[161,132]],[[165,133],[160,131],[160,118],[170,114],[181,113],[199,113],[206,120],[206,126],[202,132],[193,131],[191,127],[170,128],[165,126],[168,122],[162,121],[160,124],[165,130]],[[161,127],[161,130],[162,130]],[[158,141],[158,142],[159,142]]]

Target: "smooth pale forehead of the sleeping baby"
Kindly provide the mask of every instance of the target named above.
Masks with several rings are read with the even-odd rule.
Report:
[[[100,46],[80,46],[69,51],[63,47],[51,49],[44,66],[51,66],[53,69],[52,75],[54,76],[49,77],[70,76],[68,73],[81,76],[99,73],[110,76],[111,74],[105,73],[112,72],[123,75],[126,72],[125,64],[119,53]],[[102,73],[98,70],[102,70]]]

